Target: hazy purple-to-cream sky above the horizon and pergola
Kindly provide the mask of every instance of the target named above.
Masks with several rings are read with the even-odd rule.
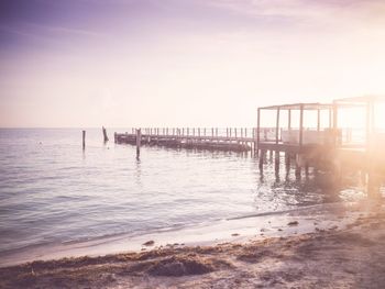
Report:
[[[0,127],[255,126],[385,95],[383,0],[1,0]]]

